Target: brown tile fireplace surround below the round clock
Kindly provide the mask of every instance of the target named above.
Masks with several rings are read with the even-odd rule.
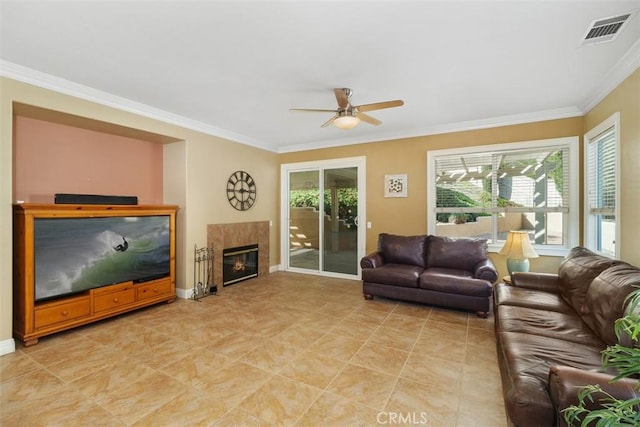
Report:
[[[207,225],[207,246],[213,247],[213,277],[218,291],[222,288],[222,251],[255,243],[258,276],[269,274],[269,221]]]

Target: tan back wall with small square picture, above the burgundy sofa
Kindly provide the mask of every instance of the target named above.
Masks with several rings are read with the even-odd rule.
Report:
[[[429,150],[581,136],[582,133],[583,118],[576,117],[286,153],[280,156],[280,161],[282,163],[296,163],[366,156],[366,221],[371,221],[372,223],[371,229],[367,230],[366,237],[366,252],[369,253],[375,250],[379,233],[411,235],[425,234],[427,232],[427,152]],[[385,198],[384,176],[405,173],[408,180],[408,197]],[[492,254],[491,258],[498,267],[500,274],[506,275],[504,257]],[[557,271],[559,262],[560,260],[557,257],[532,259],[531,270],[542,272]]]

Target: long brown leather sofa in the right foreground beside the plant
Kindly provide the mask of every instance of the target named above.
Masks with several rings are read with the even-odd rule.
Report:
[[[561,410],[576,404],[580,386],[602,384],[623,399],[635,380],[611,383],[601,351],[618,342],[614,322],[640,269],[573,248],[557,274],[514,273],[494,292],[498,363],[511,426],[564,426]],[[630,341],[623,338],[626,345]]]

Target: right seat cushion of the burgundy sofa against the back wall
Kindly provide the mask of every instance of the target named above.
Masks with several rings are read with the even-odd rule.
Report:
[[[466,270],[429,268],[420,275],[418,287],[431,291],[476,297],[490,297],[491,283],[474,279]]]

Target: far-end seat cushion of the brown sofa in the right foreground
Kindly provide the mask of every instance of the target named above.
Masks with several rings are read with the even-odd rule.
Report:
[[[515,305],[538,310],[557,311],[559,313],[575,313],[573,307],[560,294],[537,289],[518,288],[504,283],[498,283],[495,286],[494,301],[496,306]]]

